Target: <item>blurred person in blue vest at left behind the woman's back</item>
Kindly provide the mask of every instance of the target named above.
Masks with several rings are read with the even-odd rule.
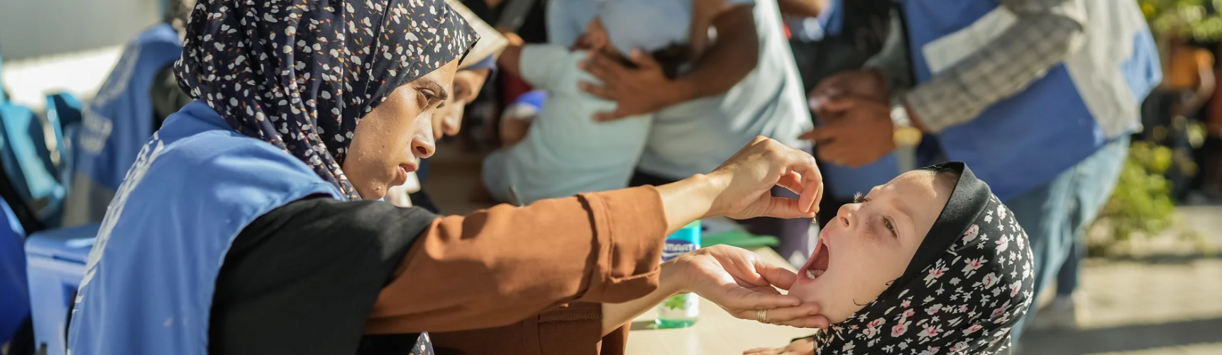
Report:
[[[119,63],[86,105],[64,227],[100,222],[136,154],[161,122],[191,102],[174,77],[181,32],[196,0],[166,2],[161,23],[127,43]]]

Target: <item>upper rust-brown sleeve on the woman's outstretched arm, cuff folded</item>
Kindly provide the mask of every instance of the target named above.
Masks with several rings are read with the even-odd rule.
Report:
[[[365,333],[501,327],[573,301],[644,296],[657,287],[664,233],[653,187],[439,218],[382,288]]]

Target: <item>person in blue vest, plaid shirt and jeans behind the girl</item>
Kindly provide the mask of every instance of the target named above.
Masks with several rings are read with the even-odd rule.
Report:
[[[816,88],[829,123],[804,137],[821,160],[862,166],[895,150],[897,129],[920,129],[920,165],[964,161],[1014,211],[1039,293],[1084,253],[1139,104],[1162,79],[1150,29],[1134,1],[896,2],[907,38]],[[1069,268],[1052,306],[1072,316]]]

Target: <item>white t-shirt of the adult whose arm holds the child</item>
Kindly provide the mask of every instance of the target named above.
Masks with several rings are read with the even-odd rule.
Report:
[[[693,0],[701,1],[701,0]],[[755,2],[759,65],[730,91],[656,112],[639,168],[664,178],[709,173],[756,135],[805,149],[814,124],[776,0]]]

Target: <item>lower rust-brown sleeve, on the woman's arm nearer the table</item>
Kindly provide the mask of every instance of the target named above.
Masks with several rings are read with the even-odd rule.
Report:
[[[429,335],[437,355],[623,355],[628,326],[601,331],[602,305],[574,303],[505,327]]]

